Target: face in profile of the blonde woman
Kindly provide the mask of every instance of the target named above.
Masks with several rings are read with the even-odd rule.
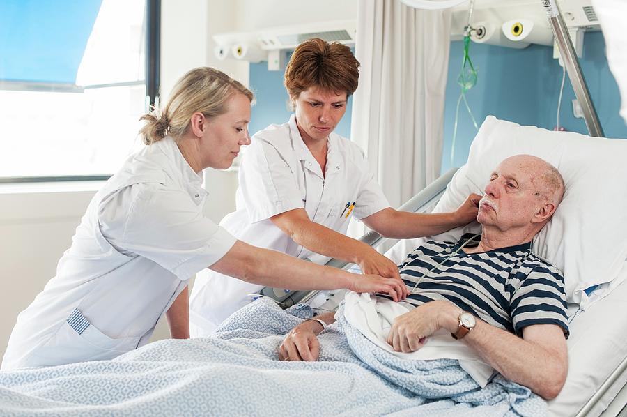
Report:
[[[226,103],[226,112],[208,120],[203,132],[201,153],[205,167],[231,166],[240,146],[250,144],[249,121],[250,100],[244,94],[234,94]]]

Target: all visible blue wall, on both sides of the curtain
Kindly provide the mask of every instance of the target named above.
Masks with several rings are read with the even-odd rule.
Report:
[[[463,43],[451,43],[449,75],[444,109],[444,150],[442,172],[451,167],[451,142],[455,107],[460,88],[457,77],[463,57]],[[467,100],[479,125],[488,114],[523,125],[552,129],[556,124],[562,67],[552,58],[552,48],[531,45],[524,50],[470,44],[470,58],[478,71],[477,86],[467,93]],[[607,67],[605,42],[599,31],[585,34],[584,53],[580,59],[590,96],[607,137],[627,138],[627,126],[619,116],[620,96],[614,77]],[[291,112],[281,71],[268,71],[267,63],[250,65],[250,85],[256,95],[252,111],[251,134],[270,123],[284,123]],[[583,119],[575,119],[571,101],[575,93],[566,75],[559,124],[566,130],[587,133]],[[346,115],[336,132],[350,137],[350,100]],[[454,165],[466,161],[470,143],[476,134],[463,103],[460,106]]]

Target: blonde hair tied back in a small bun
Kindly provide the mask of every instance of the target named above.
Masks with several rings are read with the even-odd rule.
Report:
[[[139,135],[146,145],[166,135],[178,139],[187,132],[192,114],[201,112],[208,119],[219,116],[226,112],[226,102],[236,93],[244,94],[251,102],[254,98],[249,89],[222,71],[194,68],[176,82],[163,109],[153,107],[152,112],[139,118],[146,121]]]

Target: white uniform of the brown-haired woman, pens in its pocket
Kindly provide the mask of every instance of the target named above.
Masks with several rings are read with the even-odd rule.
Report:
[[[257,132],[242,155],[237,211],[220,226],[241,241],[309,258],[322,264],[328,257],[303,248],[281,232],[273,215],[304,208],[309,218],[346,234],[348,222],[366,218],[389,203],[370,172],[362,149],[332,133],[327,139],[327,165],[320,165],[302,141],[295,116],[288,123]],[[346,204],[355,203],[348,218]],[[196,277],[190,297],[190,334],[211,333],[226,317],[249,303],[263,285],[235,280],[214,271]]]

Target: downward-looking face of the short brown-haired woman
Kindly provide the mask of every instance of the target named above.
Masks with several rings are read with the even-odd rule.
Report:
[[[336,94],[318,87],[309,87],[297,97],[292,97],[296,107],[296,124],[302,138],[306,142],[327,139],[346,113],[347,99],[346,93]]]

